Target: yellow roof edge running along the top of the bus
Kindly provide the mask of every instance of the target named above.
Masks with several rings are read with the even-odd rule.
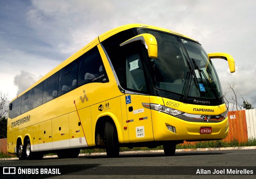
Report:
[[[168,33],[171,33],[171,34],[174,34],[174,35],[178,35],[178,36],[183,37],[183,38],[188,38],[190,40],[196,41],[196,40],[194,40],[194,39],[192,39],[192,38],[190,38],[188,36],[185,36],[183,34],[180,34],[178,32],[175,32],[175,31],[172,31],[172,30],[168,30],[168,29],[165,29],[165,28],[159,28],[159,27],[156,27],[156,26],[150,26],[150,25],[145,25],[145,24],[127,24],[127,25],[124,25],[124,26],[119,26],[117,28],[114,28],[112,30],[109,30],[109,31],[105,32],[104,34],[98,36],[98,38],[95,38],[94,40],[92,40],[92,42],[90,42],[89,44],[87,44],[86,46],[84,46],[83,48],[78,50],[78,52],[76,52],[75,54],[73,54],[72,56],[70,56],[69,58],[64,60],[62,63],[60,63],[58,66],[56,66],[54,69],[52,69],[46,75],[44,75],[40,80],[35,82],[28,89],[26,89],[25,91],[23,91],[22,93],[20,93],[16,97],[14,97],[14,99],[17,99],[18,97],[20,97],[21,95],[23,95],[24,93],[29,91],[30,89],[34,88],[36,85],[40,84],[41,82],[43,82],[44,80],[46,80],[47,78],[49,78],[50,76],[52,76],[53,74],[58,72],[64,66],[66,66],[66,65],[70,64],[71,62],[73,62],[78,55],[80,56],[80,55],[84,54],[86,51],[90,50],[91,48],[93,48],[94,46],[96,46],[100,42],[106,40],[107,38],[113,36],[114,34],[117,34],[118,32],[121,32],[121,31],[124,31],[124,30],[128,30],[128,29],[131,29],[131,28],[148,28],[148,29],[160,30],[160,31],[163,31],[163,32],[168,32]],[[12,99],[10,102],[12,102],[14,99]]]

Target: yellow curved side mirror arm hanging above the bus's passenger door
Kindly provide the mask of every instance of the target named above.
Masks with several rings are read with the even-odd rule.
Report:
[[[120,46],[122,47],[139,40],[143,41],[146,48],[148,49],[149,58],[157,58],[158,56],[157,42],[156,42],[156,38],[151,34],[140,34],[138,36],[130,38],[129,40],[126,40],[124,43],[120,44]]]

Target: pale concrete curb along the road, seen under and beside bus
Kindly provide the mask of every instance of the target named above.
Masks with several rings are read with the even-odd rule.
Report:
[[[250,147],[219,147],[219,148],[198,148],[198,149],[176,149],[176,152],[184,152],[184,151],[214,151],[214,150],[249,150],[249,149],[256,149],[256,146]],[[164,150],[146,150],[146,151],[123,151],[120,154],[126,153],[161,153]],[[80,153],[78,156],[90,156],[90,155],[107,155],[106,152],[102,153]],[[57,155],[48,155],[44,156],[44,158],[57,158]],[[3,158],[0,160],[18,160],[17,157],[15,158]]]

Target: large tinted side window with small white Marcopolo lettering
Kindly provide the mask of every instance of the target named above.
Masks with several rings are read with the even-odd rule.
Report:
[[[97,47],[79,58],[78,85],[109,82]]]

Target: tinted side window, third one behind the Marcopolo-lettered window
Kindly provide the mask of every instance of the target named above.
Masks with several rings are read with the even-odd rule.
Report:
[[[43,82],[32,88],[30,109],[34,109],[35,107],[42,105],[43,88]]]

